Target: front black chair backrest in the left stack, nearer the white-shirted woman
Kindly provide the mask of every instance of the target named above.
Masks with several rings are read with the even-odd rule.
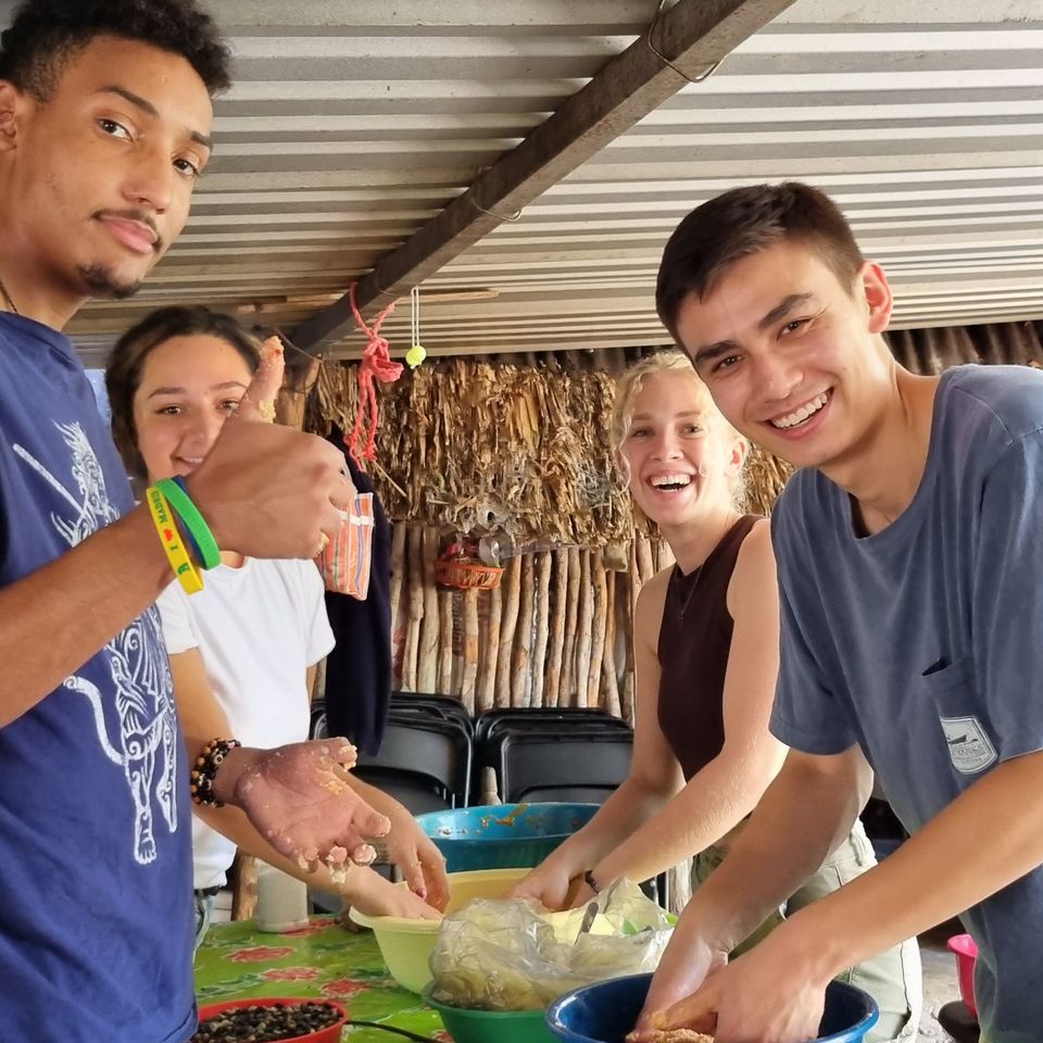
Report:
[[[458,721],[392,709],[380,752],[360,755],[354,771],[363,781],[390,793],[414,814],[420,814],[466,806],[470,793],[470,734]],[[430,799],[422,799],[424,794],[436,794],[442,803],[431,805]],[[422,807],[422,804],[428,806]]]

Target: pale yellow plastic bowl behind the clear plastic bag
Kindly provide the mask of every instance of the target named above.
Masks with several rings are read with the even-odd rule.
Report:
[[[449,875],[447,913],[455,913],[473,899],[502,899],[528,874],[528,869],[475,869]],[[404,888],[401,883],[399,887]],[[372,928],[391,977],[410,992],[422,992],[431,980],[428,959],[435,950],[438,920],[413,920],[404,916],[366,916],[353,908],[355,923]]]

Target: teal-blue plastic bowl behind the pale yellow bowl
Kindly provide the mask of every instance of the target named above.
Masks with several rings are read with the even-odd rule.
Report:
[[[538,866],[587,825],[600,804],[493,804],[417,815],[447,872]]]

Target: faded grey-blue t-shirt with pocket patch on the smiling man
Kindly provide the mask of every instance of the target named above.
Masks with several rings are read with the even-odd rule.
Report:
[[[944,373],[923,476],[882,531],[856,538],[847,494],[802,470],[771,538],[782,742],[858,743],[913,832],[997,765],[1043,750],[1043,373]],[[1043,868],[963,919],[981,953],[982,1039],[1038,1043]]]

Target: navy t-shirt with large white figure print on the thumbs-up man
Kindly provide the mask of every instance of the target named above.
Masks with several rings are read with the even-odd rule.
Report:
[[[68,340],[0,314],[0,587],[131,506]],[[0,1040],[191,1035],[185,770],[154,607],[0,728]]]

